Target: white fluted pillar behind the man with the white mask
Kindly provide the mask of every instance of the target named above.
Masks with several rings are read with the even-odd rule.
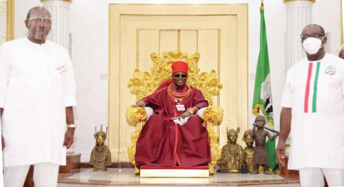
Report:
[[[286,3],[286,68],[291,68],[294,64],[306,56],[301,47],[301,31],[312,23],[312,5],[315,0],[283,0]]]

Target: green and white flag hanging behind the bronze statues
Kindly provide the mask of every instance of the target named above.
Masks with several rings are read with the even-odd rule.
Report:
[[[266,29],[264,20],[264,7],[260,6],[260,49],[256,70],[256,83],[253,96],[252,113],[256,116],[262,112],[266,123],[274,126],[272,115],[272,95],[270,82],[269,55],[267,52]],[[269,170],[276,173],[275,140],[266,142],[269,157]]]

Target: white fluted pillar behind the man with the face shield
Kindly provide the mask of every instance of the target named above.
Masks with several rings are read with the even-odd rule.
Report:
[[[43,0],[52,18],[47,39],[69,49],[69,5],[72,0]]]

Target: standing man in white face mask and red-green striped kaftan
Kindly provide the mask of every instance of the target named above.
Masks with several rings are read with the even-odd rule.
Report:
[[[284,166],[290,132],[288,169],[299,170],[302,187],[344,186],[344,60],[326,53],[319,25],[302,30],[307,58],[288,70],[276,148]]]

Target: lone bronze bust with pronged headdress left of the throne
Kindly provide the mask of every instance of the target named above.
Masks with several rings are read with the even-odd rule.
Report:
[[[100,131],[97,132],[97,128],[95,128],[95,146],[91,152],[91,158],[89,160],[89,164],[93,165],[93,171],[107,171],[107,166],[111,166],[111,153],[108,148],[104,144],[107,134],[103,132],[103,125],[100,126]]]

